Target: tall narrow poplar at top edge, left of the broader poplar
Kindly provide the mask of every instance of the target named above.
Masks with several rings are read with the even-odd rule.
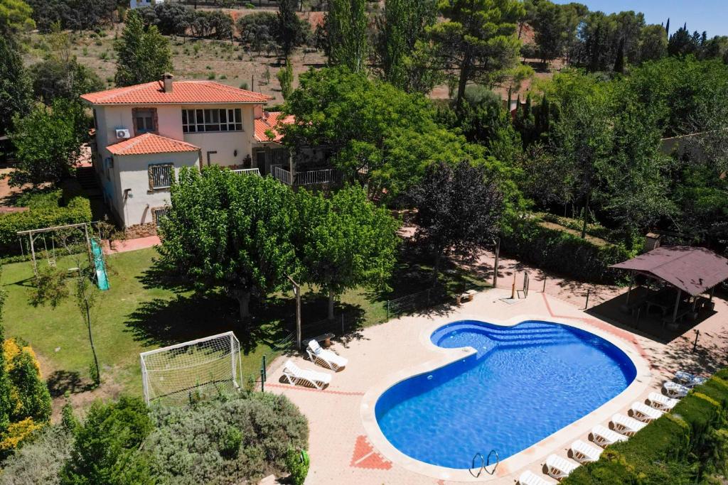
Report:
[[[346,65],[355,73],[365,68],[369,44],[366,0],[329,0],[324,19],[325,52],[331,65]]]

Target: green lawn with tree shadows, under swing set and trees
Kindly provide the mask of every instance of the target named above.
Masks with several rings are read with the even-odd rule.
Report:
[[[404,254],[411,254],[403,249]],[[234,330],[241,341],[244,375],[256,375],[261,358],[276,355],[276,342],[290,333],[295,322],[291,292],[279,293],[264,303],[253,304],[253,332],[240,333],[237,303],[219,292],[195,294],[165,284],[149,269],[157,255],[154,249],[114,254],[107,258],[111,289],[98,292],[92,310],[93,337],[102,366],[102,386],[111,393],[141,395],[139,353],[164,345]],[[430,268],[405,257],[392,276],[388,292],[356,289],[342,295],[336,312],[354,319],[358,327],[385,321],[386,301],[417,292],[430,285]],[[44,264],[44,262],[42,263]],[[74,266],[58,260],[58,268]],[[22,337],[36,350],[44,377],[54,396],[66,390],[84,390],[88,383],[92,354],[84,320],[72,298],[58,308],[33,308],[28,296],[33,288],[30,262],[3,267],[1,284],[7,291],[4,326],[8,337]],[[450,292],[483,286],[454,268],[448,268],[440,282]],[[304,289],[302,320],[307,324],[326,316],[326,300]],[[335,327],[336,328],[336,327]]]

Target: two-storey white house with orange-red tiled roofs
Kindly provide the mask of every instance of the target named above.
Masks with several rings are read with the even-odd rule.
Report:
[[[274,161],[287,163],[275,131],[279,113],[262,109],[269,99],[214,81],[174,81],[171,74],[82,95],[94,112],[92,159],[103,196],[124,228],[154,232],[181,167],[259,167],[266,174]]]

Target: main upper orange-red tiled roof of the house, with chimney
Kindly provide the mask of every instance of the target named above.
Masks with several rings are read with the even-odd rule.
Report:
[[[173,81],[172,92],[165,92],[162,81],[130,87],[117,87],[82,95],[93,105],[159,105],[203,103],[266,103],[272,97],[237,89],[214,81]]]

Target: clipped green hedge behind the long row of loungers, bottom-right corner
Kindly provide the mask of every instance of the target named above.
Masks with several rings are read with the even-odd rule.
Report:
[[[694,484],[726,462],[728,371],[693,390],[675,409],[628,441],[608,446],[594,463],[574,470],[564,485]]]

